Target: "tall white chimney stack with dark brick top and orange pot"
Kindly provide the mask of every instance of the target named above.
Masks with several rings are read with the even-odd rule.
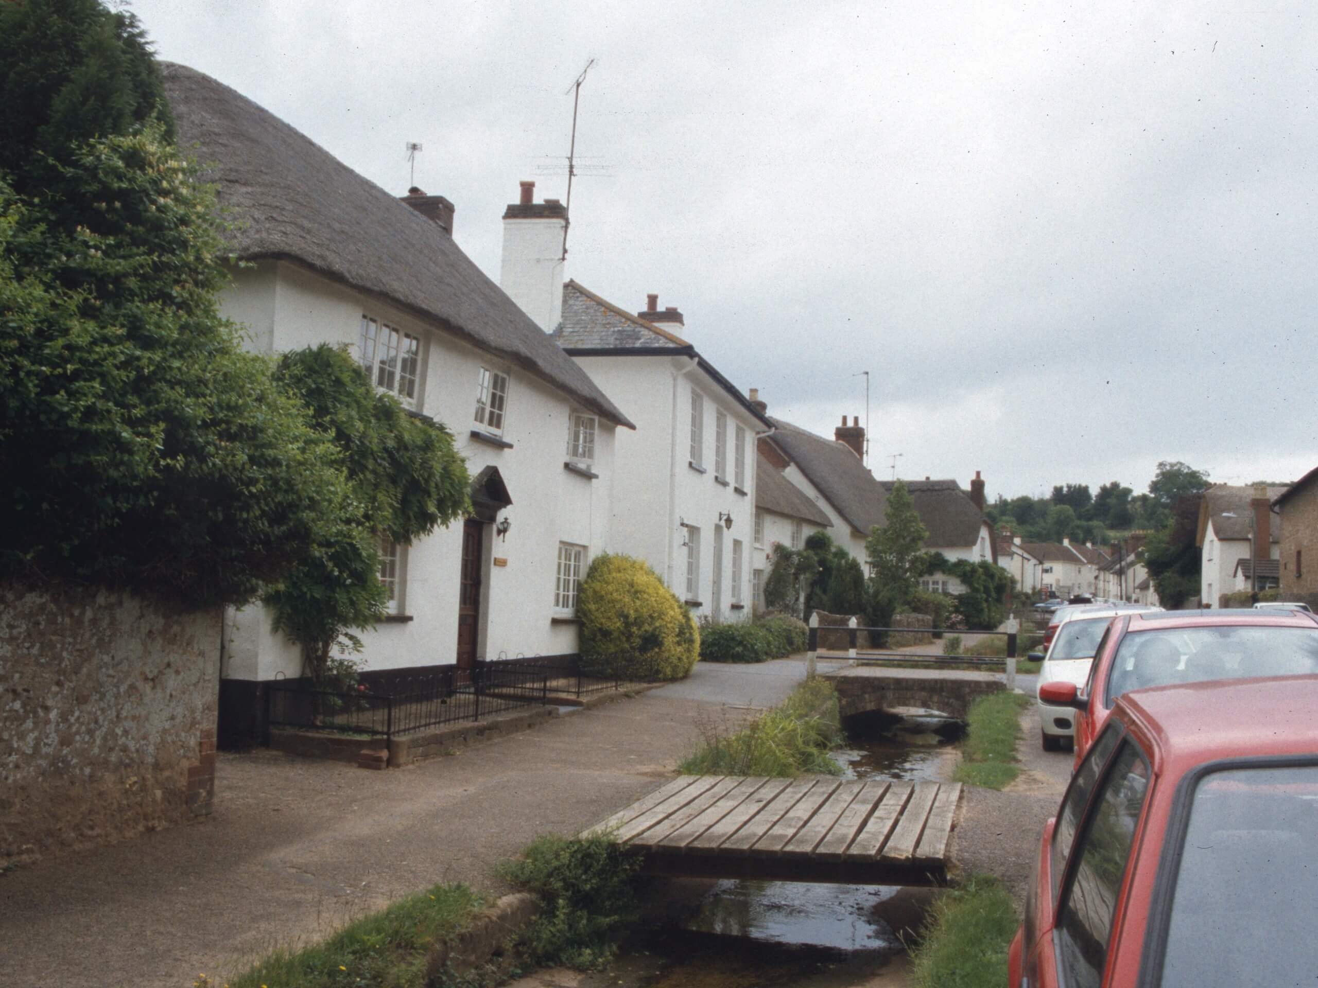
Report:
[[[503,258],[498,286],[547,333],[563,321],[563,233],[568,211],[558,199],[535,202],[535,183],[522,182],[518,202],[503,211]]]

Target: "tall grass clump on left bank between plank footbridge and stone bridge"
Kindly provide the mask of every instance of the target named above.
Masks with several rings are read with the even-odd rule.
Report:
[[[789,779],[803,772],[842,773],[829,757],[844,736],[837,690],[818,677],[738,731],[716,721],[700,730],[705,743],[677,765],[683,775]]]

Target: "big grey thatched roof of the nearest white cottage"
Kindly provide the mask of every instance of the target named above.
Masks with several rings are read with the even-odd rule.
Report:
[[[228,86],[169,62],[161,71],[179,146],[241,224],[227,234],[240,258],[297,261],[386,298],[633,427],[439,225]]]

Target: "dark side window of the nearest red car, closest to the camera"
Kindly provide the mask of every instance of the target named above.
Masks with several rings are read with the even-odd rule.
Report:
[[[1068,987],[1098,988],[1116,914],[1126,862],[1148,792],[1148,767],[1124,743],[1094,797],[1075,843],[1077,862],[1057,918],[1058,966]]]

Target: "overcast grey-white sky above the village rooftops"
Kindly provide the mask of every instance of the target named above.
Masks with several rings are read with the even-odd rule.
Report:
[[[770,414],[865,415],[988,494],[1318,464],[1318,11],[1222,3],[136,0],[162,58],[402,195],[498,278],[518,180],[567,277],[646,292]],[[614,395],[626,411],[626,397]]]

